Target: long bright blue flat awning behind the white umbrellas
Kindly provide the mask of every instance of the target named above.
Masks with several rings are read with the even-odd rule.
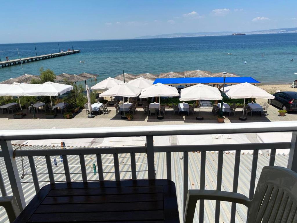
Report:
[[[259,81],[252,77],[226,77],[225,84],[241,84],[248,82],[258,84]],[[223,84],[223,77],[185,77],[185,78],[157,78],[154,84]]]

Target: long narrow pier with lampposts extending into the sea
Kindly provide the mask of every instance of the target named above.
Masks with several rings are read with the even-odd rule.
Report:
[[[80,50],[72,50],[72,51],[66,51],[66,52],[55,53],[55,54],[46,54],[46,55],[41,55],[41,56],[31,56],[31,57],[27,57],[27,58],[2,61],[2,62],[0,62],[0,67],[10,67],[12,65],[20,64],[21,62],[24,64],[24,63],[50,59],[50,58],[54,58],[54,57],[58,57],[58,56],[66,56],[66,55],[76,54],[76,53],[80,53]]]

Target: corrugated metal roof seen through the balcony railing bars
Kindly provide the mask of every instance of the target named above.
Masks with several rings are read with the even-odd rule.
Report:
[[[13,147],[14,149],[17,146]],[[47,146],[28,146],[23,147],[22,149],[46,149]],[[233,171],[234,171],[234,160],[235,154],[224,153],[224,162],[223,162],[223,176],[222,176],[222,190],[232,191],[233,187]],[[183,156],[182,152],[172,153],[171,162],[172,162],[172,180],[176,183],[176,193],[178,198],[178,208],[180,215],[180,222],[183,222]],[[58,167],[55,167],[53,164],[53,159],[56,158],[58,162]],[[53,172],[55,175],[56,182],[66,181],[64,175],[63,163],[60,162],[60,156],[52,156],[52,165]],[[206,154],[206,179],[205,187],[206,189],[216,189],[217,181],[217,153],[207,153]],[[21,158],[16,158],[18,170],[20,176],[22,175],[22,162]],[[46,167],[46,162],[44,157],[34,157],[36,170],[38,173],[38,180],[40,181],[40,187],[45,186],[49,183],[48,172]],[[96,164],[96,156],[88,155],[85,156],[86,161],[86,170],[88,180],[99,180],[98,175],[93,173],[91,165]],[[286,167],[288,161],[288,156],[286,155],[277,155],[275,158],[275,165]],[[68,156],[69,170],[72,181],[81,181],[81,170],[80,170],[80,161],[79,156]],[[268,166],[269,155],[259,154],[258,157],[258,166],[257,166],[257,179],[260,176],[261,170],[264,166]],[[113,168],[113,154],[104,154],[102,155],[102,164],[105,180],[115,180],[114,168]],[[120,165],[120,177],[121,179],[131,179],[131,166],[130,166],[130,154],[119,154],[119,165]],[[240,171],[239,171],[239,180],[238,180],[238,193],[242,193],[246,196],[249,194],[249,182],[251,174],[251,165],[252,165],[252,154],[247,153],[241,155],[240,159]],[[26,203],[35,196],[35,189],[32,180],[31,170],[29,166],[29,161],[27,157],[23,158],[23,166],[25,177],[21,179],[23,191],[26,198]],[[156,178],[164,179],[166,178],[166,154],[165,153],[155,153],[155,168],[156,168]],[[5,163],[3,158],[0,158],[0,169],[4,178],[5,186],[7,189],[7,194],[12,195],[10,188],[9,179],[7,176]],[[147,157],[145,153],[136,154],[136,169],[137,169],[137,178],[145,179],[148,178],[147,174]],[[200,153],[189,153],[189,189],[199,189],[200,187]],[[198,222],[198,209],[199,202],[197,205],[197,213],[195,214],[194,222]],[[204,208],[204,222],[214,222],[214,211],[215,211],[215,201],[205,201]],[[230,211],[231,203],[221,202],[221,213],[220,213],[220,222],[229,222],[230,220]],[[246,222],[246,213],[247,208],[243,205],[237,205],[236,208],[236,221],[235,222]],[[0,222],[8,222],[4,208],[0,209]]]

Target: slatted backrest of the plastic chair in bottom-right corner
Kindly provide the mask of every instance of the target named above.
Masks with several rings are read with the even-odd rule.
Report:
[[[284,167],[263,167],[247,223],[296,222],[297,173]]]

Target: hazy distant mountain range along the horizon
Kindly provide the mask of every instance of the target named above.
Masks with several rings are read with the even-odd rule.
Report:
[[[228,36],[233,33],[246,33],[250,34],[277,34],[277,33],[297,33],[296,28],[281,28],[281,29],[268,29],[268,30],[257,30],[252,32],[189,32],[189,33],[171,33],[171,34],[161,34],[156,36],[140,36],[135,37],[135,39],[155,39],[155,38],[176,38],[176,37],[198,37],[198,36]]]

